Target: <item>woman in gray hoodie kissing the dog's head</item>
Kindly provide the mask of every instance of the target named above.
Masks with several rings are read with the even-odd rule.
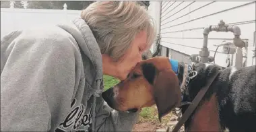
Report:
[[[125,79],[155,38],[134,1],[97,1],[71,24],[1,40],[1,131],[131,131],[138,112],[111,110],[102,75]]]

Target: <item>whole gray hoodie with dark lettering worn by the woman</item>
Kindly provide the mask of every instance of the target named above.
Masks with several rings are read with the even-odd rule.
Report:
[[[82,18],[1,38],[1,131],[131,131],[138,113],[112,110],[102,91],[100,48]]]

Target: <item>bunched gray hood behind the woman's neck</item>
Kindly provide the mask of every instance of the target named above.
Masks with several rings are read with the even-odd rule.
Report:
[[[63,28],[66,32],[69,32],[69,34],[75,38],[82,53],[84,53],[86,58],[92,63],[92,68],[96,71],[95,78],[92,80],[102,79],[102,55],[94,34],[92,34],[92,30],[88,24],[86,24],[82,18],[76,18],[73,20],[72,24],[59,24],[57,26]]]

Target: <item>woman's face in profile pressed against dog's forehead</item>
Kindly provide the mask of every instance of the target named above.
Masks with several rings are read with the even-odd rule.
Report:
[[[127,77],[129,72],[135,67],[135,65],[141,61],[141,55],[148,49],[147,34],[142,31],[135,36],[131,46],[127,52],[119,61],[117,61],[117,70],[119,73],[119,79],[123,80]]]

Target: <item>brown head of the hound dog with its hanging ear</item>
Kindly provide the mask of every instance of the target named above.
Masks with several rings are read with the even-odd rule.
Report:
[[[146,77],[152,72],[155,75],[152,79],[154,81],[150,84]],[[127,79],[108,91],[113,91],[114,99],[107,102],[116,110],[141,109],[156,104],[159,119],[168,114],[171,108],[179,106],[181,102],[179,79],[172,71],[166,57],[154,57],[141,61]],[[105,97],[104,94],[102,96]]]

